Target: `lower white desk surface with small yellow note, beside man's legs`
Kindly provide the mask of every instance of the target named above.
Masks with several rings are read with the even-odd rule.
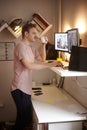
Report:
[[[40,86],[41,87],[41,86]],[[76,100],[63,89],[55,86],[42,86],[42,95],[32,92],[32,103],[38,123],[55,123],[86,120],[87,112]]]

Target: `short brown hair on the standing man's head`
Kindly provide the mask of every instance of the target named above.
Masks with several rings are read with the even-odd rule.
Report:
[[[26,23],[22,27],[22,38],[24,37],[25,32],[29,32],[31,28],[36,28],[36,24]]]

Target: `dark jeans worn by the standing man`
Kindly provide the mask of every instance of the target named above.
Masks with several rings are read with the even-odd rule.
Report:
[[[19,89],[11,92],[17,108],[17,117],[13,130],[32,129],[32,103],[31,95],[25,94]]]

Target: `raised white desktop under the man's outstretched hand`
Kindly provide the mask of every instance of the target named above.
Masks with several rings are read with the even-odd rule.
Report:
[[[68,69],[63,69],[62,67],[51,67],[51,70],[56,72],[61,77],[70,77],[70,76],[87,76],[87,72],[82,71],[70,71]]]

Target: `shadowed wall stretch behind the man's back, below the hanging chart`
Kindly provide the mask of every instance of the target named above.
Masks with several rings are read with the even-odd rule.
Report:
[[[0,62],[0,121],[10,120],[15,117],[15,105],[10,94],[13,77],[13,62]]]

